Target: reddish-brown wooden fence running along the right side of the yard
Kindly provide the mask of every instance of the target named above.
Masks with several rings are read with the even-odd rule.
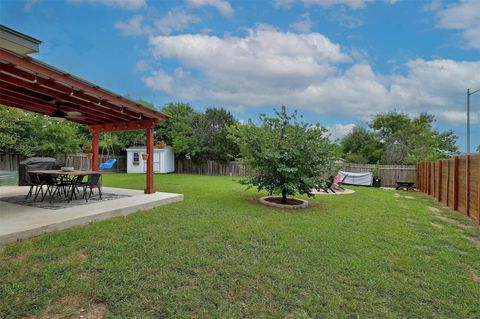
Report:
[[[480,224],[480,155],[418,164],[417,188]]]

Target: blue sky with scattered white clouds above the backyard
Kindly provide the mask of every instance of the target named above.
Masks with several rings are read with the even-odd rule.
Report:
[[[480,88],[480,0],[3,0],[35,57],[157,107],[239,119],[298,109],[340,137],[373,114],[429,112],[465,150]],[[480,93],[472,96],[480,144]]]

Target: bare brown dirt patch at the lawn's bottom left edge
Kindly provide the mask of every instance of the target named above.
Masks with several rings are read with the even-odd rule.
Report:
[[[106,312],[105,304],[86,302],[79,296],[66,296],[51,302],[40,315],[24,319],[101,319]]]

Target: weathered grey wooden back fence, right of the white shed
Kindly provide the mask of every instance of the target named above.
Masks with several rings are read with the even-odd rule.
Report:
[[[374,172],[373,164],[338,164],[338,170],[352,173]],[[214,161],[194,163],[188,159],[175,161],[175,172],[180,174],[219,175],[219,176],[247,176],[250,174],[248,167],[240,162],[225,164]],[[414,165],[380,165],[379,175],[382,186],[395,186],[397,181],[415,182],[416,167]]]

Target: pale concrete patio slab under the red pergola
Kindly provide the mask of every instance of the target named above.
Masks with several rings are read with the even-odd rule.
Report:
[[[139,190],[112,187],[102,190],[122,197],[65,208],[39,208],[11,202],[13,197],[25,196],[28,186],[0,186],[0,244],[183,201],[183,194],[146,195]]]

